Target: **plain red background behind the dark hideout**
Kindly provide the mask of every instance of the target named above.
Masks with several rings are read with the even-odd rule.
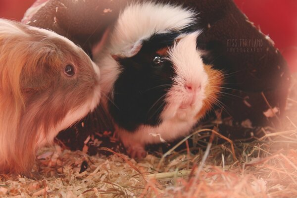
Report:
[[[0,0],[0,17],[20,20],[35,0]],[[297,0],[234,0],[256,27],[269,35],[297,72]]]

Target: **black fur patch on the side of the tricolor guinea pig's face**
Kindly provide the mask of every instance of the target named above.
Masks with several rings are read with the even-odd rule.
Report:
[[[122,73],[114,84],[114,98],[109,110],[119,127],[135,131],[141,124],[157,126],[172,86],[175,72],[172,63],[163,59],[160,67],[152,66],[156,51],[173,45],[178,33],[154,34],[143,42],[142,49],[131,58],[118,60]]]

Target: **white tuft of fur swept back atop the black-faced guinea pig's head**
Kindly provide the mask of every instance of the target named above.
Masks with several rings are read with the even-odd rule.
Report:
[[[154,33],[179,31],[193,24],[195,13],[182,6],[132,3],[120,13],[110,38],[111,54],[131,57]]]

